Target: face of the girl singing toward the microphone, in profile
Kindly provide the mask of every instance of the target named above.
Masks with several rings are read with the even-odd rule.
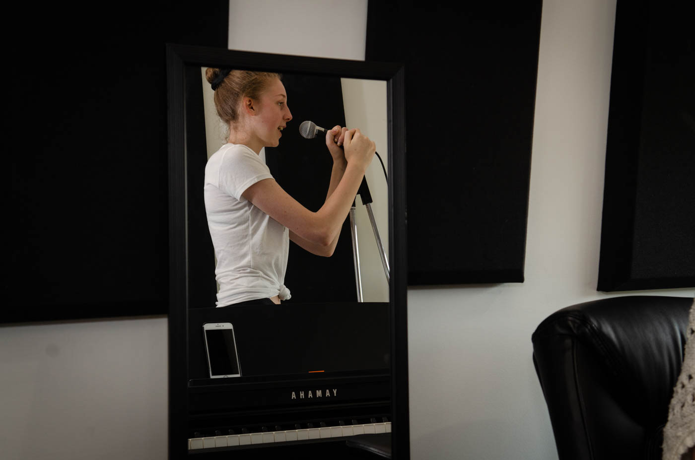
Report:
[[[292,120],[292,114],[287,106],[287,93],[279,79],[274,79],[265,88],[258,101],[252,101],[255,116],[253,131],[263,147],[277,147],[280,143],[282,130],[287,122]]]

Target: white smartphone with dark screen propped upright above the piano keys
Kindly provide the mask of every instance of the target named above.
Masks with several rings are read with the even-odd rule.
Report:
[[[231,323],[206,322],[203,325],[203,333],[210,378],[240,377],[241,366]]]

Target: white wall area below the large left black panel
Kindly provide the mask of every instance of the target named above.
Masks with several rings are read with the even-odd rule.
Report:
[[[167,458],[165,317],[0,327],[0,457]]]

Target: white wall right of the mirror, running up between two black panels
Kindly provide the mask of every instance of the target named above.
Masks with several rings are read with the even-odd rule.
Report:
[[[524,283],[409,290],[414,459],[557,459],[531,334],[553,311],[606,296],[596,281],[615,4],[543,1]]]

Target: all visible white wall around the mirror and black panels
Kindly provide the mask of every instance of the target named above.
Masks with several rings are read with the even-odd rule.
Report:
[[[530,336],[603,297],[614,13],[614,0],[543,1],[526,281],[409,290],[414,459],[557,459]],[[231,42],[263,19],[254,51],[363,57],[366,0],[231,1],[230,16]],[[161,317],[0,327],[3,459],[166,459],[166,353]]]

